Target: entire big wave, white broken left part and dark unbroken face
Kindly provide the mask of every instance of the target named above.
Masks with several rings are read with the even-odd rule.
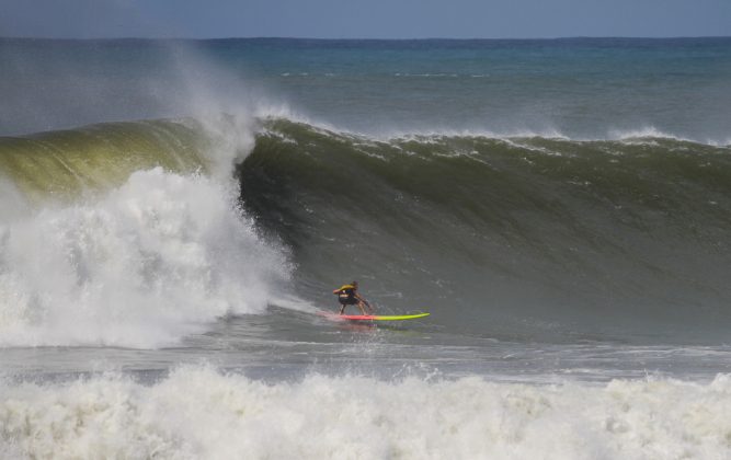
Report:
[[[729,147],[219,122],[0,139],[3,345],[175,343],[264,311],[288,260],[316,306],[357,278],[457,333],[712,342],[731,322]]]

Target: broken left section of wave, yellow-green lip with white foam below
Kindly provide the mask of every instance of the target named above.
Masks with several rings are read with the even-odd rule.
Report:
[[[164,120],[0,139],[0,345],[159,347],[263,311],[288,263],[215,173],[225,143]]]

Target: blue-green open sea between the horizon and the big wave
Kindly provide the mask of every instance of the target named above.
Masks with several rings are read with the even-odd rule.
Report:
[[[286,105],[368,134],[603,139],[656,130],[728,143],[731,130],[728,38],[4,39],[0,47],[10,64],[0,79],[4,134],[189,113],[186,97],[201,87],[219,101]],[[90,107],[98,104],[89,97],[106,103]]]

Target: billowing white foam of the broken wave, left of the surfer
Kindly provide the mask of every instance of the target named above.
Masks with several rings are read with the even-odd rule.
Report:
[[[0,344],[156,347],[263,311],[288,267],[237,193],[157,168],[98,202],[0,222]]]

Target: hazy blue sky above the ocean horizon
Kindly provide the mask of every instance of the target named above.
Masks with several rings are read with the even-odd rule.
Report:
[[[0,36],[731,36],[731,0],[0,0]]]

